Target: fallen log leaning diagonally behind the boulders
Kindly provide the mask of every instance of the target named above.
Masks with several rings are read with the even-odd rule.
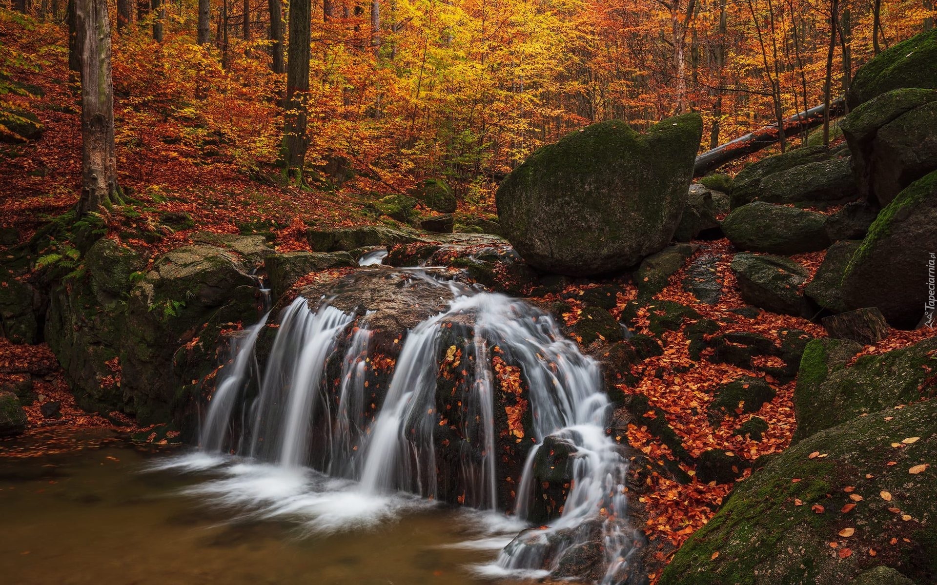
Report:
[[[804,130],[823,124],[823,105],[801,111],[784,120],[784,136],[790,137]],[[840,97],[829,105],[829,117],[838,118],[845,112],[845,102]],[[778,126],[770,125],[759,128],[731,142],[721,144],[696,157],[693,165],[693,177],[702,177],[722,165],[741,158],[746,154],[756,153],[766,146],[780,140]]]

